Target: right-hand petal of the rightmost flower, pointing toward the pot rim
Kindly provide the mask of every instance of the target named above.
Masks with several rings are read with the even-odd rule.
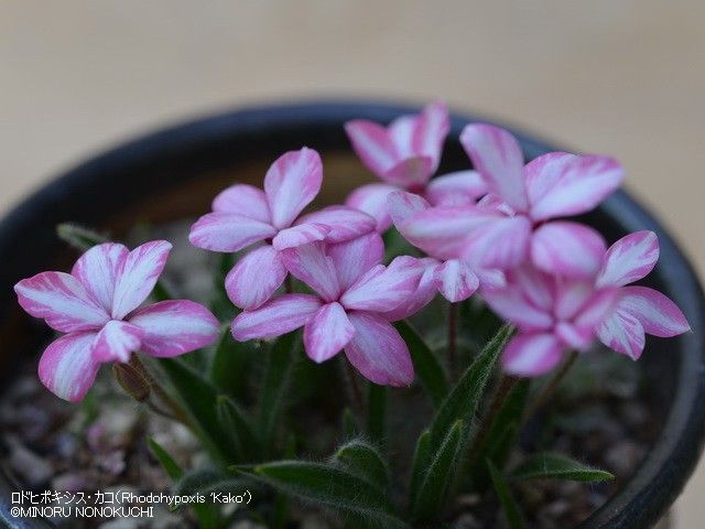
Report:
[[[634,316],[648,334],[668,338],[691,330],[681,310],[661,292],[647,287],[622,287],[617,310]]]

